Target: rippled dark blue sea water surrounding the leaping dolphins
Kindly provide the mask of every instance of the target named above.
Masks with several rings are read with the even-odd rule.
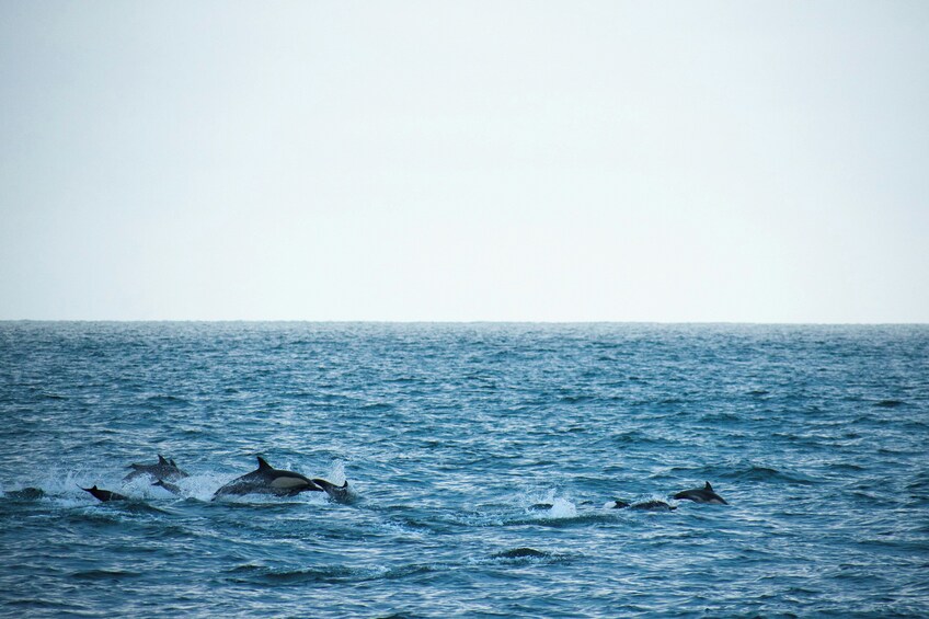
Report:
[[[0,413],[7,616],[929,615],[927,326],[7,322]]]

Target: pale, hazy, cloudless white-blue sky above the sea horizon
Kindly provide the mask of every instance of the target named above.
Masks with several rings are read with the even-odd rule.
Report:
[[[929,2],[0,1],[0,320],[929,322]]]

